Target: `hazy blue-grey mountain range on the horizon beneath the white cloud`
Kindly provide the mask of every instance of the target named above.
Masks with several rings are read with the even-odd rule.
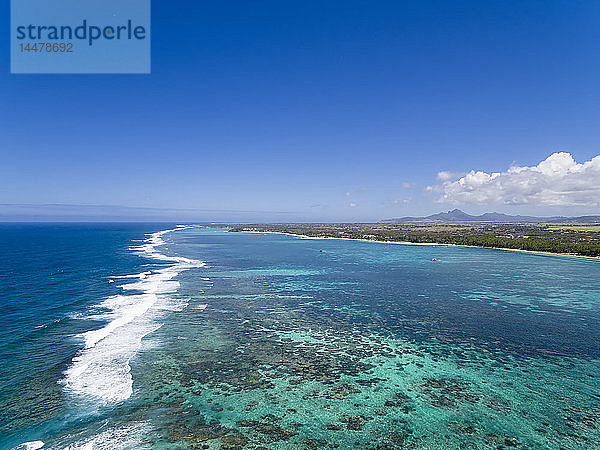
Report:
[[[445,213],[432,214],[426,217],[399,217],[396,219],[381,220],[379,223],[460,223],[460,222],[495,222],[495,223],[540,223],[540,222],[570,222],[570,223],[600,223],[600,216],[580,217],[535,217],[535,216],[512,216],[502,213],[485,213],[472,216],[460,209],[453,209]]]

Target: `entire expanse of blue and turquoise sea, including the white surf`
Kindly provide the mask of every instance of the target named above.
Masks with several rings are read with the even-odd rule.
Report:
[[[2,244],[0,446],[599,448],[597,261],[81,227]]]

